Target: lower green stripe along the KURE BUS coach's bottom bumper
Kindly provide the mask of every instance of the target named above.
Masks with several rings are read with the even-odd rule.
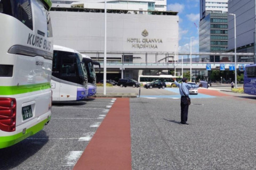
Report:
[[[28,137],[30,137],[31,135],[41,131],[44,128],[45,123],[48,122],[50,119],[51,119],[51,117],[49,119],[46,118],[46,120],[43,120],[42,122],[36,124],[35,126],[32,126],[31,128],[27,129],[25,134],[20,132],[18,134],[14,134],[11,136],[0,137],[0,149],[10,147]]]

